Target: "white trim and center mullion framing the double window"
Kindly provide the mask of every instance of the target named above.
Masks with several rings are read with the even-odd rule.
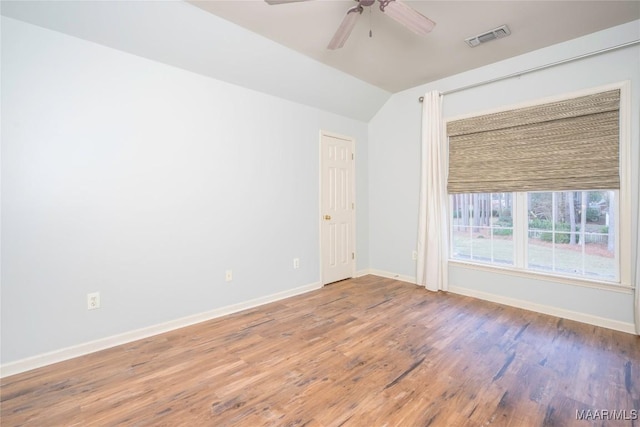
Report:
[[[632,263],[631,263],[631,245],[632,245],[632,228],[631,218],[631,82],[623,81],[604,86],[598,86],[589,88],[577,92],[567,93],[560,96],[547,97],[543,99],[537,99],[533,101],[527,101],[524,103],[511,105],[508,107],[500,107],[491,109],[489,111],[476,112],[458,117],[452,117],[445,120],[445,126],[449,121],[460,120],[464,118],[470,118],[475,116],[481,116],[486,114],[492,114],[507,110],[513,110],[517,108],[530,107],[540,104],[546,104],[550,102],[562,101],[565,99],[575,98],[584,95],[591,95],[598,92],[605,92],[608,90],[620,90],[620,140],[619,140],[619,154],[620,154],[620,189],[618,200],[618,212],[615,217],[617,227],[617,241],[616,241],[616,257],[618,259],[618,274],[619,281],[607,281],[604,279],[588,279],[583,277],[565,276],[559,274],[545,273],[536,270],[530,270],[528,268],[518,267],[526,266],[527,260],[527,229],[526,225],[516,227],[516,221],[520,224],[528,224],[527,218],[527,193],[526,192],[514,192],[514,265],[504,266],[497,264],[486,264],[473,261],[464,261],[452,258],[453,255],[453,225],[449,224],[449,256],[448,265],[461,265],[468,266],[473,269],[481,269],[483,271],[494,271],[499,273],[507,273],[509,275],[515,275],[518,277],[526,277],[531,279],[545,280],[549,282],[557,282],[568,285],[585,286],[597,289],[606,290],[630,290],[633,289],[631,282],[632,276]],[[587,189],[588,190],[588,189]],[[449,199],[451,200],[451,199]],[[447,203],[448,216],[451,217],[451,201]],[[516,216],[517,215],[517,216]],[[523,218],[522,218],[523,217]],[[640,226],[640,224],[639,224]],[[625,232],[622,232],[624,228]]]

